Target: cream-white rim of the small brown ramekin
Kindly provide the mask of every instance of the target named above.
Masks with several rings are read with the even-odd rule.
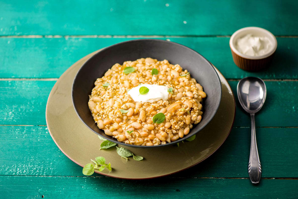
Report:
[[[273,41],[274,41],[273,42],[273,48],[268,53],[266,53],[264,55],[259,55],[259,56],[250,56],[250,55],[244,55],[243,53],[240,53],[234,45],[234,40],[235,40],[235,37],[238,34],[242,33],[245,30],[256,30],[256,31],[267,34],[269,37],[273,38]],[[268,31],[264,28],[250,26],[250,27],[241,28],[241,29],[237,30],[235,33],[233,33],[231,38],[230,38],[229,45],[230,45],[231,50],[240,57],[243,57],[243,58],[246,58],[246,59],[263,59],[263,58],[269,57],[270,55],[272,55],[276,51],[276,49],[277,49],[277,40],[276,40],[276,37],[270,31]]]

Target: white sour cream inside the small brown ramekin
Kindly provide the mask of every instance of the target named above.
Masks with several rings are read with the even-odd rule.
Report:
[[[272,44],[267,37],[254,37],[252,34],[247,34],[237,39],[236,48],[244,55],[260,56],[268,53]]]

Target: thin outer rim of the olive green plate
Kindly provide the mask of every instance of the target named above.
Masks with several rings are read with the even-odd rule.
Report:
[[[103,48],[102,48],[103,49]],[[99,49],[99,50],[96,50],[92,53],[89,53],[88,55],[80,58],[78,61],[76,61],[74,64],[72,64],[67,70],[65,70],[63,72],[63,74],[58,78],[58,80],[56,81],[56,83],[54,84],[53,88],[55,87],[55,85],[61,80],[61,77],[63,77],[64,75],[66,75],[66,72],[69,71],[75,64],[77,64],[78,62],[80,62],[82,59],[90,56],[92,57],[93,55],[92,54],[96,54],[97,52],[99,52],[100,50],[102,49]],[[220,73],[223,77],[224,75],[211,63],[209,62],[215,69],[216,72]],[[218,78],[219,78],[219,75],[218,75]],[[230,90],[232,90],[229,82],[226,80],[226,78],[224,77],[224,80],[226,81],[226,84],[229,86]],[[48,118],[47,118],[47,112],[48,112],[48,101],[49,101],[49,98],[52,96],[52,92],[53,92],[53,88],[51,90],[51,92],[49,93],[49,97],[47,99],[47,102],[46,102],[46,126],[48,128],[48,131],[49,131],[49,134],[51,135],[51,138],[52,140],[54,141],[54,143],[56,144],[56,146],[58,146],[58,148],[60,149],[60,151],[67,157],[69,158],[71,161],[73,161],[74,163],[76,163],[77,165],[81,166],[81,167],[84,167],[82,164],[78,163],[77,161],[75,161],[74,159],[72,159],[69,155],[67,155],[61,148],[60,146],[58,145],[58,143],[56,142],[56,140],[54,139],[54,136],[52,135],[50,129],[49,129],[49,125],[48,125]],[[145,180],[145,179],[153,179],[153,178],[160,178],[160,177],[164,177],[164,176],[168,176],[168,175],[172,175],[172,174],[175,174],[175,173],[178,173],[178,172],[181,172],[181,171],[184,171],[186,169],[189,169],[190,167],[193,167],[195,165],[197,165],[198,163],[201,163],[203,162],[204,160],[206,160],[207,158],[209,158],[212,154],[214,154],[221,146],[222,144],[224,144],[224,142],[226,141],[226,139],[228,138],[228,136],[230,135],[230,132],[232,131],[232,128],[234,126],[234,122],[235,122],[235,116],[236,116],[236,100],[235,100],[235,95],[234,95],[234,92],[232,92],[232,95],[233,95],[233,98],[234,98],[234,118],[233,118],[233,122],[232,122],[232,125],[230,127],[230,130],[228,132],[228,134],[226,135],[226,137],[224,138],[224,140],[221,142],[221,144],[212,152],[210,153],[207,157],[205,157],[204,159],[202,159],[201,161],[198,161],[197,163],[191,165],[191,166],[188,166],[186,168],[183,168],[183,169],[180,169],[178,171],[175,171],[175,172],[172,172],[172,173],[168,173],[168,174],[164,174],[164,175],[159,175],[159,176],[153,176],[153,177],[148,177],[148,178],[123,178],[123,177],[117,177],[117,176],[113,176],[113,175],[109,175],[109,174],[106,174],[106,173],[101,173],[101,172],[98,172],[96,170],[94,170],[94,173],[98,173],[100,175],[105,175],[105,176],[108,176],[108,177],[112,177],[112,178],[119,178],[119,179],[127,179],[127,180]],[[222,97],[222,96],[221,96]]]

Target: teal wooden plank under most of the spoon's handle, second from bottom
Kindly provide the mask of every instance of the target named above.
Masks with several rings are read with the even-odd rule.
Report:
[[[262,177],[297,178],[298,156],[291,156],[291,161],[285,158],[289,151],[298,152],[297,128],[257,128],[256,132]],[[0,175],[83,176],[82,167],[58,149],[46,127],[0,126],[0,140]],[[173,177],[248,178],[249,149],[250,128],[233,128],[215,154]],[[280,169],[280,165],[285,166]]]

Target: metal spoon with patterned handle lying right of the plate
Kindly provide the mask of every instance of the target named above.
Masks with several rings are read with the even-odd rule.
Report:
[[[265,102],[266,85],[262,79],[257,77],[243,78],[238,82],[237,95],[241,106],[246,112],[250,113],[252,120],[248,174],[252,183],[258,183],[260,182],[262,169],[257,148],[254,114],[262,108]]]

